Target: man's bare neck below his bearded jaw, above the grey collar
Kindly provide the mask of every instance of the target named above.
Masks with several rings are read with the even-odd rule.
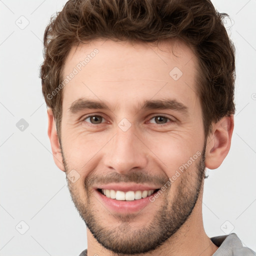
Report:
[[[202,185],[203,187],[203,185]],[[216,250],[217,246],[212,243],[210,238],[206,235],[202,221],[202,190],[198,196],[197,202],[193,208],[192,213],[184,224],[167,239],[162,245],[148,253],[136,254],[137,256],[211,256]],[[115,253],[102,247],[93,237],[87,228],[87,255],[88,256],[116,256]],[[122,255],[127,256],[127,255]]]

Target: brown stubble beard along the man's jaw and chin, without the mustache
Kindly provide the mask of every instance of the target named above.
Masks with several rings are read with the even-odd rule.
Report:
[[[185,223],[196,204],[204,178],[205,147],[204,143],[200,159],[195,164],[195,170],[187,169],[178,177],[182,180],[172,202],[168,199],[169,192],[172,191],[171,186],[159,196],[159,199],[164,198],[163,202],[145,227],[132,228],[134,215],[131,214],[115,214],[118,221],[111,227],[108,223],[102,222],[102,214],[94,207],[92,201],[94,196],[90,192],[91,189],[86,186],[86,179],[83,187],[84,196],[81,198],[75,185],[67,178],[72,201],[91,234],[106,249],[117,255],[139,254],[154,250]],[[68,173],[63,153],[62,156],[66,173]],[[94,201],[98,203],[96,198]],[[106,210],[103,214],[106,216],[110,213]]]

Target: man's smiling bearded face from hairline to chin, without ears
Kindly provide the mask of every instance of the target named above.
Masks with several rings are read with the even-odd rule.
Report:
[[[205,167],[196,65],[180,41],[95,40],[67,56],[68,187],[94,238],[113,252],[155,249],[194,208]]]

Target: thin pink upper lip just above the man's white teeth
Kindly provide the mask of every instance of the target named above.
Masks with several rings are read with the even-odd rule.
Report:
[[[95,189],[113,189],[115,191],[137,191],[137,190],[150,190],[150,189],[158,189],[159,187],[155,187],[153,185],[147,184],[131,184],[131,183],[108,183],[102,184],[95,187]]]

